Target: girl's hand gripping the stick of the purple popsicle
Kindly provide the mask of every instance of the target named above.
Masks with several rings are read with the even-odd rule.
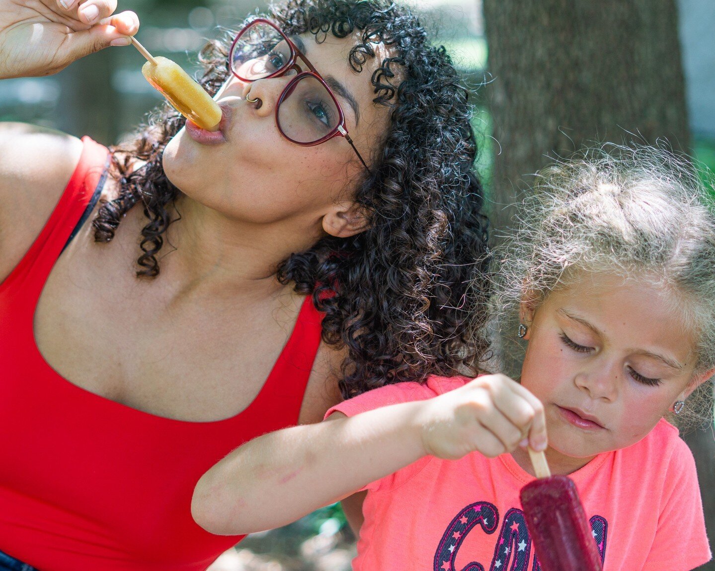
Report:
[[[489,458],[518,445],[546,448],[543,405],[505,375],[484,375],[429,400],[415,421],[425,452],[454,460],[478,450]]]

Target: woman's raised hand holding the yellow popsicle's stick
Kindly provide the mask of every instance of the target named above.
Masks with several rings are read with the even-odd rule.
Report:
[[[128,45],[137,14],[117,0],[0,0],[0,79],[56,74],[110,45]]]

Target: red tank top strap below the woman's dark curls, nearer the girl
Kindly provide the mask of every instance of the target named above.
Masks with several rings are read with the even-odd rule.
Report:
[[[251,407],[271,410],[285,426],[297,424],[305,389],[322,338],[322,318],[307,295],[300,307],[295,327],[278,360]],[[266,400],[265,409],[262,400]]]

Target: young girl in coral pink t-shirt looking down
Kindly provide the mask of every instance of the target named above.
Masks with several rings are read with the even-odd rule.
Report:
[[[664,419],[714,367],[715,219],[701,198],[655,149],[546,169],[496,308],[521,316],[521,383],[388,385],[257,438],[199,480],[197,522],[265,530],[363,488],[356,571],[538,570],[518,500],[528,444],[576,482],[606,571],[706,562],[694,460]]]

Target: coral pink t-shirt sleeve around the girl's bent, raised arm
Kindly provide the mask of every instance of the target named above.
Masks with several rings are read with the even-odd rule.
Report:
[[[430,377],[424,384],[395,383],[394,385],[385,385],[369,390],[367,393],[363,393],[354,398],[344,400],[342,403],[330,408],[327,413],[325,413],[325,418],[328,418],[335,412],[343,413],[346,416],[355,416],[360,413],[365,413],[368,410],[375,410],[375,408],[400,403],[410,403],[414,400],[426,400],[447,393],[450,390],[464,385],[466,382],[468,382],[468,379],[463,377]],[[395,485],[398,485],[398,482],[408,480],[415,475],[415,473],[422,470],[432,458],[432,456],[420,458],[417,462],[406,466],[402,470],[398,470],[394,474],[371,482],[359,491],[370,490],[371,492],[375,492],[378,489],[393,489]]]

